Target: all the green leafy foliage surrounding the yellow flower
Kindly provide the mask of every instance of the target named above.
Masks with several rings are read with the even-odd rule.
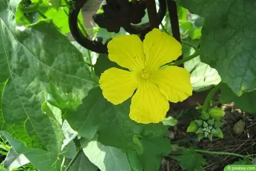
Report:
[[[223,138],[225,113],[212,104],[216,94],[221,103],[234,101],[240,109],[256,112],[255,3],[176,3],[183,58],[164,67],[183,65],[190,73],[193,95],[209,91],[197,107],[201,115],[191,117],[187,132],[197,134],[198,140]],[[5,137],[0,141],[0,153],[6,156],[1,169],[9,169],[11,155],[14,161],[22,161],[12,169],[51,171],[155,171],[168,155],[187,170],[203,170],[207,162],[202,154],[238,157],[236,164],[253,161],[253,154],[171,144],[167,131],[181,117],[137,123],[129,117],[131,98],[118,105],[106,100],[99,87],[100,76],[109,68],[122,66],[106,54],[93,53],[70,41],[68,15],[75,8],[70,1],[60,0],[0,2],[0,127]],[[152,11],[147,12],[141,23],[150,18],[152,24]],[[172,14],[167,12],[160,25],[166,34],[174,31],[166,19],[169,16]],[[88,39],[102,37],[108,42],[127,34],[124,29],[114,34],[95,27],[90,35],[81,12],[77,23]],[[165,97],[161,94],[161,98]]]

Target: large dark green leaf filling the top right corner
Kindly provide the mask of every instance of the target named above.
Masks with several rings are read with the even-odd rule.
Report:
[[[223,82],[238,96],[254,90],[255,1],[176,1],[191,13],[205,17],[200,48],[202,61],[217,69]]]

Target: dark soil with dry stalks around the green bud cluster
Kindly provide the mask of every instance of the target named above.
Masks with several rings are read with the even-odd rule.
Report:
[[[222,126],[223,139],[214,138],[212,141],[203,139],[198,142],[195,134],[186,133],[186,128],[190,121],[200,116],[197,110],[189,110],[174,115],[178,118],[179,124],[169,129],[168,138],[170,143],[207,151],[230,152],[240,155],[256,154],[256,115],[253,116],[237,109],[233,103],[224,104],[219,107],[223,108],[226,113],[222,119],[224,123]],[[245,123],[245,127],[240,129],[240,134],[236,134],[233,131],[233,127],[240,120]],[[208,163],[203,167],[204,170],[223,170],[226,165],[239,160],[239,157],[228,155],[203,154],[203,157]],[[162,161],[161,170],[177,171],[182,169],[176,160],[167,156]]]

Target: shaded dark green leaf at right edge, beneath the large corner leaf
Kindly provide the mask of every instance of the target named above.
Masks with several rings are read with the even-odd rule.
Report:
[[[234,102],[239,109],[249,112],[251,114],[256,113],[256,105],[254,103],[256,97],[256,91],[251,91],[242,94],[238,97],[233,91],[227,86],[227,84],[223,84],[221,86],[221,94],[219,97],[219,101],[221,103],[229,103]]]

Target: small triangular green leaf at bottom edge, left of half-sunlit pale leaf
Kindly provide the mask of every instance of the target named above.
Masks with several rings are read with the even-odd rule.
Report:
[[[98,167],[95,166],[83,153],[80,151],[76,156],[74,162],[70,165],[68,171],[97,171]]]

